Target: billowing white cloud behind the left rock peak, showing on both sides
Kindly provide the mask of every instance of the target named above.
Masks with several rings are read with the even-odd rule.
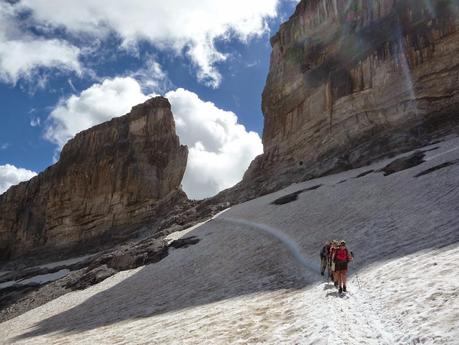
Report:
[[[172,104],[180,141],[189,147],[182,182],[188,196],[202,199],[237,183],[263,150],[259,135],[248,132],[233,112],[219,109],[195,93],[177,89],[166,97]],[[131,77],[94,84],[55,107],[48,119],[46,138],[61,148],[76,133],[125,114],[147,98]]]

